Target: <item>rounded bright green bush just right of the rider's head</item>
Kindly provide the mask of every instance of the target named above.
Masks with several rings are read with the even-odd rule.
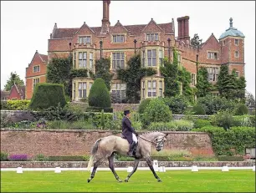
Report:
[[[151,122],[168,122],[172,119],[172,111],[162,99],[152,99],[143,114],[145,124]]]

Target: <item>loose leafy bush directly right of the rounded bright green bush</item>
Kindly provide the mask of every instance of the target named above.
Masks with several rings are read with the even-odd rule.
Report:
[[[188,106],[187,99],[182,96],[166,97],[164,101],[173,114],[184,114]]]

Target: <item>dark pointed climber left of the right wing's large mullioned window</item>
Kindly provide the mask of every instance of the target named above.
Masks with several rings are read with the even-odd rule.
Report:
[[[207,94],[210,93],[212,89],[212,84],[209,83],[207,79],[207,69],[205,67],[202,67],[198,71],[197,76],[197,97],[205,97]]]

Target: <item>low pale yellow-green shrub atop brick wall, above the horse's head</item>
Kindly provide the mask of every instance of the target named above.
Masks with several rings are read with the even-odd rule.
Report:
[[[174,120],[171,122],[153,122],[149,125],[147,130],[178,130],[178,131],[187,131],[192,130],[193,123],[188,120]]]

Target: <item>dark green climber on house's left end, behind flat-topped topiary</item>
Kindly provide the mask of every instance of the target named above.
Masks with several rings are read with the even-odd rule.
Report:
[[[47,65],[46,82],[52,84],[64,84],[64,93],[71,97],[72,79],[72,57],[53,58]]]

